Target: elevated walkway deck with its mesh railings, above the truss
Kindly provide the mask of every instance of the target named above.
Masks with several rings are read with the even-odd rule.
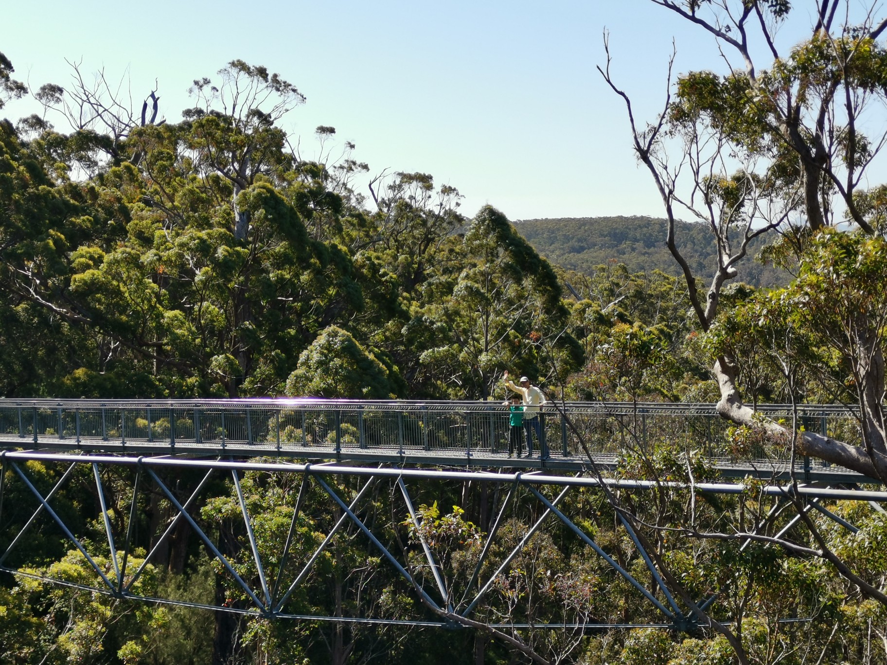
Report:
[[[763,404],[790,419],[787,404]],[[859,429],[843,406],[805,404],[801,425],[855,442]],[[568,420],[563,418],[566,414]],[[558,403],[539,416],[533,458],[507,455],[508,411],[497,402],[323,399],[0,400],[0,448],[82,450],[129,455],[281,457],[389,465],[549,469],[588,465],[574,427],[595,462],[613,470],[626,451],[679,442],[726,477],[785,480],[789,451],[739,445],[710,403]],[[540,449],[550,457],[540,457]],[[526,449],[524,449],[526,454]],[[842,467],[800,458],[804,481],[875,482]]]

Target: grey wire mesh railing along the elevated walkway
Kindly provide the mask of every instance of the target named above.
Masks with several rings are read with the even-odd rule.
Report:
[[[758,405],[763,417],[789,429],[786,404]],[[566,418],[564,415],[566,415]],[[546,442],[553,457],[606,460],[669,446],[702,454],[715,463],[785,466],[789,442],[765,439],[718,416],[713,404],[558,403],[530,429],[534,452]],[[852,407],[804,404],[797,426],[861,444]],[[446,457],[506,453],[508,408],[501,403],[349,400],[16,400],[0,404],[0,437],[7,447],[82,444],[90,449],[187,446],[224,450],[428,452]],[[526,450],[526,430],[521,433]],[[800,468],[827,467],[798,458]]]

